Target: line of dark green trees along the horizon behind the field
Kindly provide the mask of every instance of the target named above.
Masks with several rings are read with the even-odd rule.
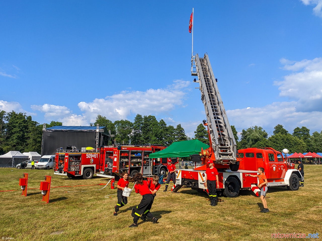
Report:
[[[167,125],[161,119],[157,121],[153,115],[137,114],[133,122],[128,120],[110,121],[105,116],[98,115],[96,121],[90,125],[106,127],[110,130],[111,138],[109,143],[119,144],[155,144],[169,146],[174,141],[183,141],[190,139],[198,139],[201,142],[209,145],[208,132],[201,123],[194,131],[194,137],[190,138],[185,134],[185,129],[178,124],[175,126]],[[46,127],[60,126],[62,122],[51,121],[46,124]],[[237,136],[237,131],[234,126],[232,132],[237,143],[237,149],[248,147],[272,147],[281,151],[284,148],[293,152],[322,152],[322,131],[313,132],[310,135],[310,130],[307,127],[296,127],[293,133],[290,134],[283,125],[278,124],[274,127],[273,134],[269,134],[258,126],[242,129],[241,138]],[[42,144],[42,129],[43,125],[32,120],[32,116],[27,116],[22,112],[5,112],[0,110],[0,155],[8,151],[41,152]]]

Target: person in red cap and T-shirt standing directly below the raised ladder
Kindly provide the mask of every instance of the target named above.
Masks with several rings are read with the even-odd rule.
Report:
[[[207,162],[209,167],[206,169],[206,178],[204,181],[204,187],[208,189],[210,205],[217,205],[217,188],[219,188],[219,180],[218,180],[218,171],[213,166],[213,160],[209,160]],[[217,185],[216,185],[217,181]],[[216,188],[217,187],[217,188]]]

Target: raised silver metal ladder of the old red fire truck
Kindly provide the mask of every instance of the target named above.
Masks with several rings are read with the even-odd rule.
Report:
[[[208,55],[195,56],[201,100],[204,103],[211,146],[218,164],[235,164],[236,141],[229,124],[223,101],[219,94]]]

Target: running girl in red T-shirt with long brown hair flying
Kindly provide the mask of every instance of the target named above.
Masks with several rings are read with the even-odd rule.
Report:
[[[139,205],[137,205],[137,208],[132,209],[132,217],[133,217],[133,223],[129,226],[129,228],[137,227],[137,221],[139,220],[142,213],[144,213],[147,210],[147,207],[151,204],[153,201],[152,193],[149,189],[147,181],[143,181],[143,177],[141,173],[137,173],[134,177],[130,177],[130,182],[136,184],[134,185],[134,189],[136,193],[140,193],[142,195],[142,200]],[[150,213],[151,214],[151,213]],[[153,217],[151,214],[152,222],[156,223],[157,219]]]

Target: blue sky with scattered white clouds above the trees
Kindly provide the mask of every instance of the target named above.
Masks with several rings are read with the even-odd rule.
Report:
[[[230,124],[322,129],[322,1],[0,2],[0,110],[88,125],[205,119],[190,73],[208,53]]]

